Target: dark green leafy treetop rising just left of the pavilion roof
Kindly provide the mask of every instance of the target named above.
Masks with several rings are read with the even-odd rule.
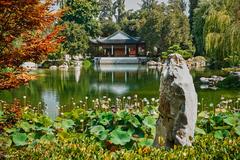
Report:
[[[63,15],[63,22],[69,21],[81,25],[91,37],[99,35],[100,25],[97,17],[99,6],[96,0],[68,0],[69,10]]]

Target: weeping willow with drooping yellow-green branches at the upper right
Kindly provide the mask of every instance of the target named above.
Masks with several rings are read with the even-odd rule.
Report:
[[[205,51],[218,67],[222,67],[229,57],[233,57],[232,60],[239,63],[240,21],[236,13],[240,13],[240,2],[237,1],[239,0],[221,2],[215,0],[215,4],[218,5],[211,8],[205,19],[203,27]]]

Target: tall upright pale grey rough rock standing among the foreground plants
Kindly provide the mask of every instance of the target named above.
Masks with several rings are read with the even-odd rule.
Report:
[[[179,54],[169,55],[163,66],[159,111],[154,146],[191,146],[197,94],[186,61]]]

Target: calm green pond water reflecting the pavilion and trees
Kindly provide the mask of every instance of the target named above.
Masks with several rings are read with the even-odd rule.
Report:
[[[73,101],[88,97],[89,101],[103,96],[115,99],[123,96],[157,98],[159,96],[160,71],[144,65],[100,65],[88,69],[37,70],[33,72],[37,80],[18,89],[0,91],[0,99],[12,102],[15,98],[37,106],[39,102],[47,106],[46,111],[53,116],[58,114],[58,107],[65,105],[70,110]],[[221,71],[191,71],[200,102],[217,104],[221,97],[240,97],[240,89],[202,90],[199,78],[202,76],[222,75]]]

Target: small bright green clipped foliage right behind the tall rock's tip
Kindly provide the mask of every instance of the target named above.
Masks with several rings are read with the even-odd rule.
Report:
[[[166,59],[169,54],[178,53],[183,56],[184,59],[192,57],[192,53],[188,50],[183,50],[179,45],[173,45],[168,48],[167,52],[162,52],[162,58]]]

